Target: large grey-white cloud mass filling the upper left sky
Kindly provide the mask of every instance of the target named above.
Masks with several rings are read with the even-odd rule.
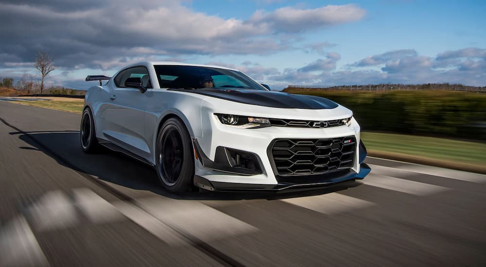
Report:
[[[243,20],[197,12],[173,0],[135,5],[128,0],[88,1],[3,1],[0,34],[9,38],[0,43],[0,55],[30,62],[35,52],[45,50],[58,67],[103,69],[118,66],[121,57],[265,55],[292,49],[300,37],[289,32],[355,21],[365,13],[356,5],[284,7],[269,13],[257,11]]]

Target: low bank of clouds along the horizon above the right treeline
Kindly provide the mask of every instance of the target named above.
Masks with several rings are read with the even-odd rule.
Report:
[[[279,89],[287,85],[333,86],[377,83],[462,83],[486,86],[486,59],[483,49],[446,51],[437,57],[419,55],[415,50],[392,50],[366,57],[346,70],[335,65],[338,53],[328,53],[304,67],[286,68],[266,76],[266,83]],[[364,65],[384,64],[381,70],[361,69]],[[360,67],[360,69],[353,69]],[[315,74],[320,71],[320,74]]]

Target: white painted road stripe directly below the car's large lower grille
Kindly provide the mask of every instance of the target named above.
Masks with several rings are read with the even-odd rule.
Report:
[[[283,199],[281,201],[326,215],[346,213],[376,205],[373,202],[349,197],[339,193]]]

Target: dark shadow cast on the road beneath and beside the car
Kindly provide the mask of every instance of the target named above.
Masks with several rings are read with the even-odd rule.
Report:
[[[108,149],[97,154],[86,154],[79,142],[79,132],[45,131],[13,132],[18,137],[56,160],[57,163],[74,170],[98,177],[98,179],[118,184],[126,189],[150,191],[164,197],[179,200],[252,200],[252,199],[285,199],[303,196],[322,195],[345,190],[360,185],[359,182],[346,182],[321,189],[283,192],[212,192],[196,190],[178,195],[165,190],[159,183],[156,171],[122,153]],[[19,148],[19,149],[23,149]],[[124,191],[124,190],[122,190]]]

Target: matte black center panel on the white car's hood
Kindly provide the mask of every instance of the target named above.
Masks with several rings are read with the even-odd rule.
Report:
[[[321,97],[294,95],[274,91],[230,90],[222,88],[169,90],[194,93],[244,104],[274,108],[331,109],[338,106],[338,104],[336,104],[335,102]]]

